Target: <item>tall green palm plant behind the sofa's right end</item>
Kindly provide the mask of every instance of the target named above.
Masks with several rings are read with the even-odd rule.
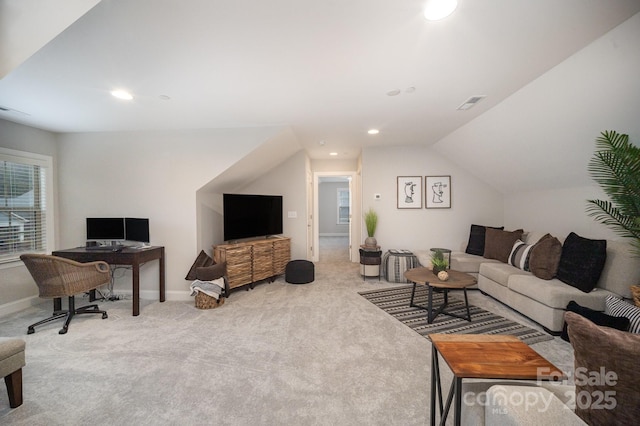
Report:
[[[640,256],[640,147],[631,144],[628,135],[602,132],[588,170],[609,196],[609,200],[587,200],[589,216],[631,239]],[[631,291],[640,306],[640,285],[632,285]]]

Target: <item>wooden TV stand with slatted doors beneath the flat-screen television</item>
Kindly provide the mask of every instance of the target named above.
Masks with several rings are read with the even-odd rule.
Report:
[[[261,280],[273,282],[284,274],[291,260],[291,238],[269,237],[261,240],[213,246],[213,260],[227,262],[229,289],[253,285]]]

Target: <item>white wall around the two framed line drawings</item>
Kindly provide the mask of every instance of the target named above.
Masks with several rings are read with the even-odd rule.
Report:
[[[451,208],[397,208],[397,177],[421,176],[424,201],[425,176],[451,176]],[[374,194],[381,199],[374,200]],[[428,147],[399,146],[366,148],[362,154],[362,211],[378,212],[376,239],[382,250],[458,250],[469,238],[471,224],[501,225],[501,194],[468,171]],[[364,221],[356,221],[366,235]]]

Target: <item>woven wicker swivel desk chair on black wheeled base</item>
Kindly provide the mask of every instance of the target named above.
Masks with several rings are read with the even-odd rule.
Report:
[[[40,297],[58,299],[54,302],[53,315],[30,325],[27,334],[35,333],[35,327],[58,318],[66,318],[59,334],[67,332],[75,315],[102,314],[102,319],[107,318],[107,312],[99,310],[98,305],[76,309],[74,298],[76,294],[90,292],[110,283],[111,270],[106,262],[79,263],[46,254],[23,254],[20,259],[38,285]],[[59,299],[64,296],[69,298],[68,310],[62,310],[60,306]]]

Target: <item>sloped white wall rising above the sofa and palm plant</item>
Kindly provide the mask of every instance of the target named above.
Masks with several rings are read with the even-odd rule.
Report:
[[[585,213],[604,195],[587,172],[604,130],[640,144],[640,14],[434,145],[505,194],[507,228],[613,234]]]

